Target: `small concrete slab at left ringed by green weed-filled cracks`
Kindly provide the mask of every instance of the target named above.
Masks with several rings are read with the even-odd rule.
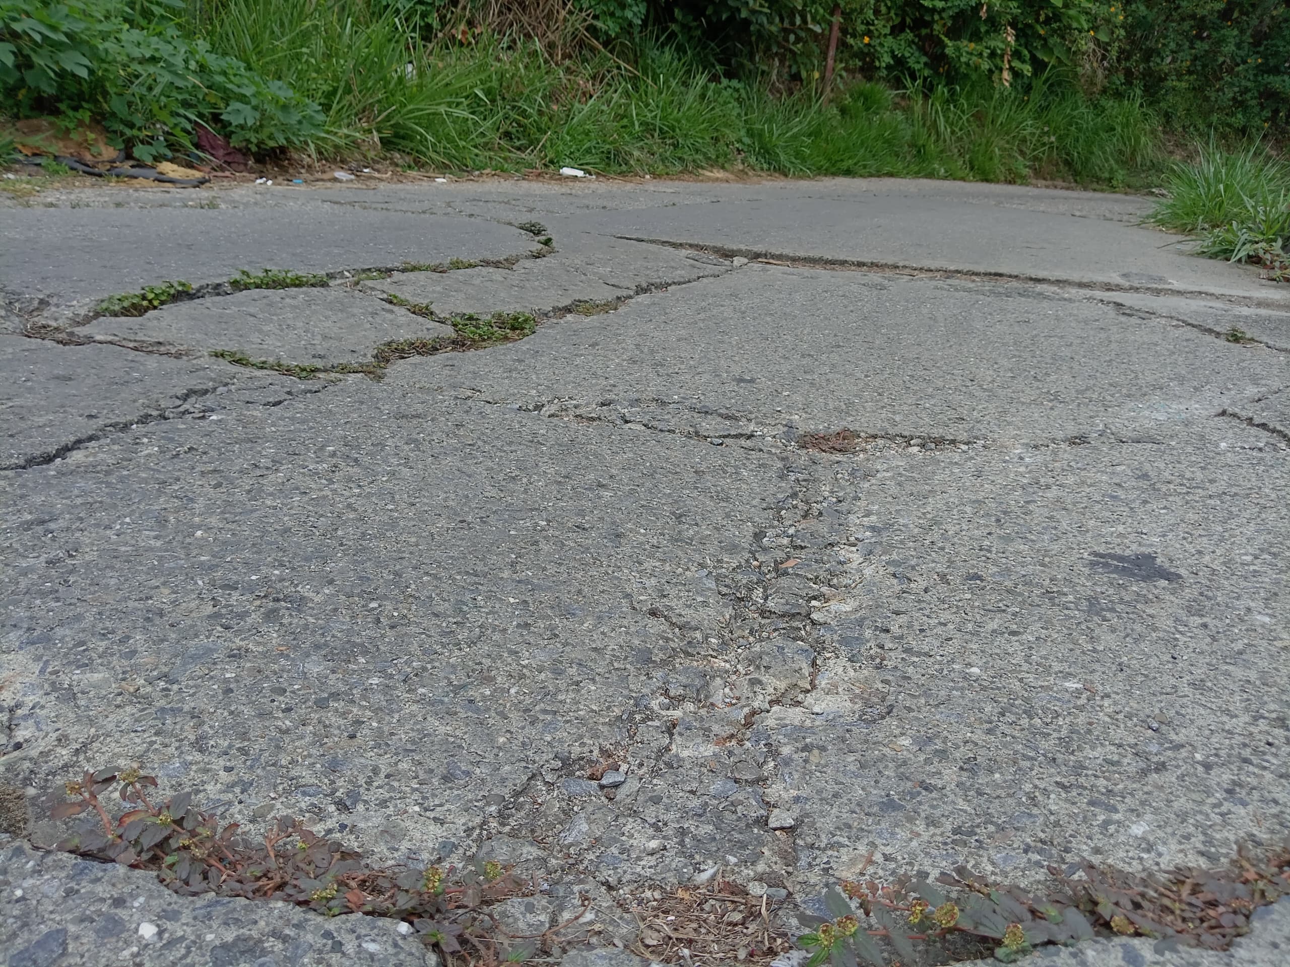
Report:
[[[128,346],[233,349],[253,360],[370,362],[382,343],[454,335],[450,326],[342,288],[252,290],[99,318],[81,335]]]

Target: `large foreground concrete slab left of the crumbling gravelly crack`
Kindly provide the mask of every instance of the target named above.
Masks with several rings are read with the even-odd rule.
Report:
[[[387,860],[464,850],[557,753],[575,768],[623,741],[691,637],[708,649],[711,569],[739,558],[778,489],[774,458],[679,437],[370,380],[322,396],[159,422],[12,481],[23,747],[4,762],[23,785],[138,747],[231,817],[273,802]],[[133,588],[50,625],[31,607],[48,607],[41,560],[62,540],[79,551],[59,600],[99,598],[101,578]],[[64,661],[74,640],[99,656],[90,677]],[[74,721],[101,743],[55,753]]]

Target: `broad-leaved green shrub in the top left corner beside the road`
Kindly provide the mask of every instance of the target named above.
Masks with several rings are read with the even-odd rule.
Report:
[[[191,146],[197,124],[253,151],[321,133],[315,104],[186,36],[178,12],[163,1],[0,0],[0,99],[17,113],[101,120],[142,160]]]

